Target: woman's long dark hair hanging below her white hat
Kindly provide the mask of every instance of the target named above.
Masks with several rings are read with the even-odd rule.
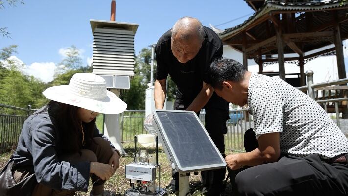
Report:
[[[51,110],[59,131],[59,154],[70,154],[80,152],[83,149],[82,141],[89,146],[93,141],[95,128],[95,119],[89,123],[82,122],[78,119],[77,110],[79,107],[68,105],[56,101],[50,101],[47,105]],[[50,109],[49,109],[50,110]],[[50,112],[50,111],[49,111]],[[50,114],[51,115],[51,114]],[[82,129],[83,127],[83,129]],[[84,134],[82,134],[84,131]],[[84,138],[83,138],[84,135]]]

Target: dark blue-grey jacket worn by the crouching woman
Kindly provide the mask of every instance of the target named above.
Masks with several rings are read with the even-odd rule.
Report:
[[[70,164],[58,160],[59,140],[69,135],[60,135],[56,128],[56,107],[58,106],[45,106],[24,122],[18,147],[13,154],[15,167],[32,165],[37,182],[52,189],[87,192],[90,162]],[[93,137],[109,141],[96,127],[93,134]],[[112,143],[110,145],[115,148]]]

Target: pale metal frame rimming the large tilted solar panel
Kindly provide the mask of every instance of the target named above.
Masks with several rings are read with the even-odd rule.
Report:
[[[209,164],[209,165],[200,165],[200,166],[190,166],[190,167],[182,167],[180,162],[178,161],[178,156],[176,155],[176,153],[174,152],[174,149],[172,147],[172,145],[169,142],[168,136],[163,128],[163,125],[161,123],[161,121],[159,120],[159,116],[157,114],[157,112],[171,112],[171,113],[192,113],[196,120],[199,122],[201,128],[204,130],[204,133],[206,134],[206,136],[208,137],[209,141],[211,142],[211,144],[213,145],[216,154],[218,154],[218,156],[220,157],[222,163],[221,164]],[[202,122],[200,121],[200,119],[198,118],[197,114],[193,111],[183,111],[183,110],[155,110],[154,111],[154,121],[156,123],[157,126],[155,126],[156,131],[157,131],[157,135],[158,138],[160,140],[160,142],[162,143],[162,147],[164,148],[164,151],[167,155],[167,158],[172,161],[178,172],[195,172],[195,171],[204,171],[204,170],[212,170],[212,169],[219,169],[219,168],[225,168],[226,167],[226,161],[225,159],[222,157],[219,149],[215,146],[214,142],[212,141],[212,139],[210,138],[207,130],[205,129],[204,125],[202,124]],[[209,152],[208,152],[209,153]],[[202,156],[205,156],[204,154],[202,154]]]

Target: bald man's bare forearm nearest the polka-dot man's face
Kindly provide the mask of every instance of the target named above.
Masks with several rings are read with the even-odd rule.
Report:
[[[196,98],[186,110],[199,112],[207,104],[213,93],[214,88],[210,84],[203,82],[202,90],[198,93]]]

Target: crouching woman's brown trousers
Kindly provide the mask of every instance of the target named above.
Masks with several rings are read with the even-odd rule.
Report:
[[[108,164],[111,156],[113,155],[113,150],[110,147],[110,143],[103,138],[93,138],[94,144],[88,147],[88,149],[81,150],[81,155],[79,153],[62,155],[58,157],[60,161],[67,161],[71,164],[79,162],[99,162]],[[26,176],[32,174],[34,171],[32,166],[15,168],[13,171],[13,178],[15,183],[20,182]],[[101,186],[104,184],[104,180],[99,180],[96,175],[91,175],[93,186]],[[54,190],[43,184],[37,184],[33,190],[32,196],[72,196],[76,191],[75,190]]]

